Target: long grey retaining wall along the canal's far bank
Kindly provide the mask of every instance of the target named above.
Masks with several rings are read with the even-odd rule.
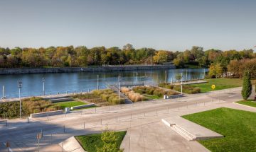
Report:
[[[50,68],[9,68],[0,69],[0,74],[47,74],[65,72],[93,71],[137,71],[154,69],[175,69],[174,65],[127,65],[127,66],[88,66],[88,67],[50,67]]]

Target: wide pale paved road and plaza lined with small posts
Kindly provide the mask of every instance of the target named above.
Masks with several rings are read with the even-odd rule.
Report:
[[[197,142],[186,141],[174,131],[166,129],[160,123],[160,119],[178,115],[181,112],[192,113],[207,108],[228,106],[227,104],[232,105],[233,101],[240,99],[239,89],[222,90],[208,94],[187,95],[180,99],[167,100],[167,102],[158,100],[134,105],[101,107],[96,110],[96,113],[94,109],[75,111],[69,115],[50,117],[49,120],[47,117],[33,119],[30,123],[27,123],[26,119],[16,119],[9,121],[9,127],[5,127],[4,123],[0,122],[0,151],[6,151],[4,146],[6,141],[10,141],[11,151],[36,151],[38,142],[36,134],[41,130],[43,131],[41,150],[43,151],[47,146],[46,151],[49,149],[62,151],[60,146],[56,145],[59,142],[70,136],[102,131],[106,124],[109,129],[128,130],[128,135],[122,144],[125,151],[174,151],[175,149],[207,151]],[[136,140],[138,142],[135,142]],[[154,143],[158,145],[149,148]]]

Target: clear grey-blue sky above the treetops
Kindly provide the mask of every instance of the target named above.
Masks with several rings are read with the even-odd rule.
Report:
[[[255,0],[0,1],[0,47],[240,50],[255,37]]]

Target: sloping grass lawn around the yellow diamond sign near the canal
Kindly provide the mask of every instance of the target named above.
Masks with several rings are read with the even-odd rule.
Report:
[[[201,93],[211,91],[211,86],[214,84],[214,90],[222,90],[225,88],[235,88],[242,86],[242,79],[240,78],[211,78],[207,79],[208,83],[193,84],[189,86],[195,86],[201,88]],[[254,81],[252,81],[254,82]]]

